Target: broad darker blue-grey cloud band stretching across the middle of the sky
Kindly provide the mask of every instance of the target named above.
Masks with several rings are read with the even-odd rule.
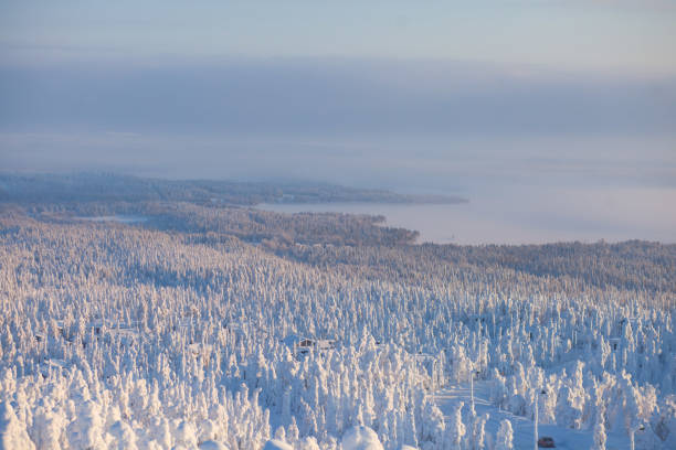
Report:
[[[6,66],[0,127],[154,132],[622,133],[676,129],[676,81],[434,62]]]

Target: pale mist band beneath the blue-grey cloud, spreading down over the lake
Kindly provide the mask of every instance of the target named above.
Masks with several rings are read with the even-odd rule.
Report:
[[[676,139],[670,136],[0,133],[0,144],[7,170],[310,181],[469,201],[271,206],[383,214],[389,225],[419,231],[420,242],[676,242]]]

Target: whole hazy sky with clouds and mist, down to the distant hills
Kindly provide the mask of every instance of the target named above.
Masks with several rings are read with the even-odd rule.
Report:
[[[674,23],[673,0],[2,1],[0,170],[553,201],[676,242]]]

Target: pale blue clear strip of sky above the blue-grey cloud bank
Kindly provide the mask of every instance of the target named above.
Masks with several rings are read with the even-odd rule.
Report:
[[[6,58],[451,58],[676,74],[676,1],[2,1]]]

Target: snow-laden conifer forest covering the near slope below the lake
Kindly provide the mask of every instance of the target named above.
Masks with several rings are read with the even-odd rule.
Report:
[[[476,383],[595,449],[676,448],[676,246],[413,238],[221,204],[1,204],[0,447],[532,448],[435,401]]]

